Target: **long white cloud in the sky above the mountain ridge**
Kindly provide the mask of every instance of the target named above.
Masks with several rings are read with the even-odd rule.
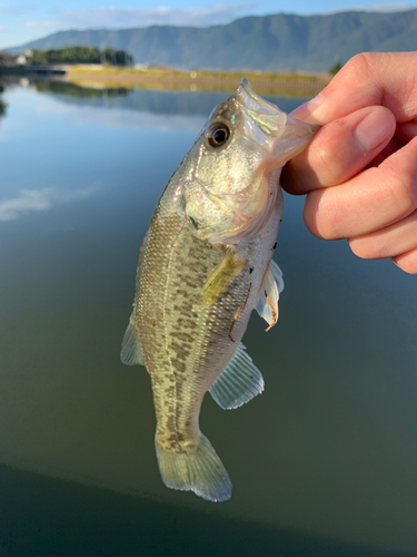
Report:
[[[43,29],[52,26],[59,29],[122,29],[152,25],[208,27],[227,23],[237,19],[255,4],[249,2],[218,3],[205,8],[85,8],[57,10],[54,21],[28,21],[28,26]]]

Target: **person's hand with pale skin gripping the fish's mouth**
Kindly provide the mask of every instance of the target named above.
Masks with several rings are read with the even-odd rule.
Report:
[[[281,179],[309,231],[417,274],[417,52],[355,56],[292,115],[322,126]]]

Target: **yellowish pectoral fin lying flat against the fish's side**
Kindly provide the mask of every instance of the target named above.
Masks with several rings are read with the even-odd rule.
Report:
[[[246,262],[245,255],[235,247],[229,247],[202,287],[200,307],[210,307],[232,283]]]

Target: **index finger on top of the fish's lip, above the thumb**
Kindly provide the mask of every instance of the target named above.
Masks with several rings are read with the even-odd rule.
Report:
[[[417,119],[417,52],[354,56],[317,97],[291,116],[325,125],[377,105],[388,108],[398,123]]]

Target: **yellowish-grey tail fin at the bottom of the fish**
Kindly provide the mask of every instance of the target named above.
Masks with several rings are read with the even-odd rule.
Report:
[[[226,501],[231,496],[231,481],[210,441],[200,433],[190,452],[172,452],[156,440],[159,470],[165,485],[193,491],[209,501]]]

